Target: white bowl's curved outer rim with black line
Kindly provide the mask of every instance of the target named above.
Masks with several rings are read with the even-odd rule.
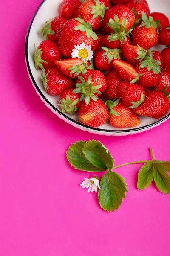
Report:
[[[45,102],[48,103],[48,105],[54,109],[54,111],[56,111],[57,113],[59,113],[59,115],[65,117],[66,119],[68,119],[69,121],[71,122],[74,122],[75,124],[77,125],[80,125],[80,126],[83,126],[85,128],[88,128],[88,129],[91,129],[91,130],[94,130],[94,131],[101,131],[101,132],[106,132],[106,133],[130,133],[130,132],[135,132],[135,131],[143,131],[147,128],[151,128],[155,125],[159,125],[161,122],[167,120],[169,117],[170,117],[170,113],[167,114],[166,116],[162,117],[161,119],[159,119],[158,121],[156,122],[153,122],[152,124],[150,125],[145,125],[145,126],[142,126],[142,127],[138,127],[138,128],[130,128],[128,130],[107,130],[107,129],[101,129],[101,128],[94,128],[94,127],[91,127],[91,126],[88,126],[88,125],[84,125],[82,124],[81,122],[78,122],[74,119],[72,119],[71,117],[69,116],[66,116],[64,113],[62,113],[61,111],[59,111],[53,104],[51,104],[51,102],[45,97],[45,95],[42,93],[42,91],[40,90],[38,84],[36,83],[35,79],[34,79],[34,76],[31,72],[31,67],[30,67],[30,64],[29,64],[29,59],[28,59],[28,40],[29,40],[29,35],[30,35],[30,31],[31,31],[31,27],[32,27],[32,24],[34,22],[34,19],[38,13],[38,11],[40,10],[41,6],[46,2],[47,0],[43,0],[42,3],[40,4],[40,6],[38,6],[36,12],[34,13],[33,15],[33,18],[31,19],[31,22],[30,22],[30,25],[28,26],[28,31],[27,31],[27,35],[26,35],[26,43],[25,43],[25,54],[26,54],[26,64],[27,64],[27,68],[28,68],[28,73],[31,77],[31,80],[32,82],[34,83],[34,86],[36,88],[36,90],[38,91],[38,93],[40,93],[40,96],[45,100]]]

